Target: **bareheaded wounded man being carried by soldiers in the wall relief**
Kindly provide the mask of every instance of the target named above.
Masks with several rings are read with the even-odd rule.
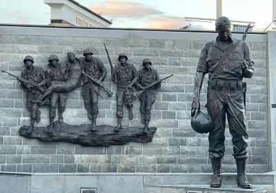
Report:
[[[41,103],[43,99],[52,94],[52,92],[70,92],[77,88],[81,82],[81,61],[76,58],[73,52],[67,53],[68,60],[65,62],[65,81],[55,81],[46,90],[43,96],[39,97],[35,103]]]

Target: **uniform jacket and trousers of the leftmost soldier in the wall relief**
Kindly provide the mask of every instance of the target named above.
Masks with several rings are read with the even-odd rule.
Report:
[[[44,74],[44,71],[42,68],[37,66],[32,66],[32,68],[24,68],[24,70],[21,72],[21,77],[23,79],[26,79],[28,81],[32,81],[34,83],[41,83],[43,81],[46,82],[46,77]],[[32,103],[34,99],[38,99],[40,96],[42,96],[42,93],[37,90],[37,88],[33,88],[32,86],[21,83],[22,87],[26,89],[27,91],[27,109],[30,112],[30,118],[36,119],[37,122],[39,122],[40,119],[40,111],[38,110],[39,104]]]

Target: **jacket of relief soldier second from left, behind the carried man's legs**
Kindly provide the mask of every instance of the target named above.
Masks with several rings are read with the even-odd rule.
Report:
[[[61,65],[58,63],[57,68],[52,67],[50,64],[46,69],[45,75],[47,79],[47,85],[51,85],[51,81],[65,81],[64,79],[64,70]]]

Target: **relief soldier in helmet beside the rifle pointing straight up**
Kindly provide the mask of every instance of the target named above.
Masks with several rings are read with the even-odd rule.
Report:
[[[128,63],[128,57],[126,54],[119,54],[118,61],[119,64],[115,65],[114,75],[115,75],[115,83],[117,83],[117,119],[118,125],[115,128],[115,131],[119,131],[121,129],[121,119],[124,117],[123,105],[124,101],[126,101],[126,106],[129,112],[129,119],[133,119],[132,107],[133,103],[130,99],[126,99],[129,96],[126,92],[126,88],[128,86],[132,87],[133,79],[137,76],[136,68],[133,64]]]

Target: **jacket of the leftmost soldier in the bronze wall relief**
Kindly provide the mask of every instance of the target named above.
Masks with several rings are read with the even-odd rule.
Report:
[[[44,74],[44,71],[42,68],[37,67],[37,66],[32,66],[30,70],[27,68],[24,68],[23,71],[21,72],[21,77],[23,79],[26,79],[28,81],[32,81],[34,83],[41,83],[42,81],[46,81],[46,77]],[[39,92],[36,88],[30,87],[30,85],[21,83],[23,88],[26,89],[27,92],[32,92],[32,94],[36,94]]]

